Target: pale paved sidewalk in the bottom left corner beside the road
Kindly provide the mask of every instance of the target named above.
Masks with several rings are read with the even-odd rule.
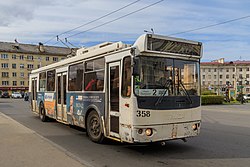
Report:
[[[1,167],[80,167],[80,160],[0,112]]]

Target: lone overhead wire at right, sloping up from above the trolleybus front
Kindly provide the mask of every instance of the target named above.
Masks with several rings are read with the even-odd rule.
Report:
[[[219,25],[222,25],[222,24],[227,24],[227,23],[231,23],[231,22],[234,22],[234,21],[247,19],[249,17],[250,17],[250,15],[244,16],[244,17],[239,17],[239,18],[223,21],[223,22],[216,23],[216,24],[211,24],[211,25],[207,25],[207,26],[203,26],[203,27],[199,27],[199,28],[195,28],[195,29],[190,29],[190,30],[187,30],[187,31],[182,31],[182,32],[178,32],[178,33],[169,34],[169,36],[184,34],[184,33],[193,32],[193,31],[198,31],[198,30],[202,30],[202,29],[206,29],[206,28],[210,28],[210,27],[215,27],[215,26],[219,26]]]

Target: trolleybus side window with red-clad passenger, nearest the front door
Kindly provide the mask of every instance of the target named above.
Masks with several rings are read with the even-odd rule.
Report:
[[[103,91],[104,87],[104,58],[85,63],[84,90]]]

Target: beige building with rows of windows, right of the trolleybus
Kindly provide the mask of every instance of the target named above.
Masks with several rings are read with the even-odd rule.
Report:
[[[201,86],[222,94],[225,88],[231,96],[242,91],[250,93],[250,61],[225,62],[224,58],[201,63]]]

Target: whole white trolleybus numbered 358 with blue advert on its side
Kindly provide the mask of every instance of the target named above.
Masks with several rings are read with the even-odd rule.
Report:
[[[185,141],[200,132],[201,54],[200,42],[155,34],[79,49],[31,72],[32,111],[98,143]]]

